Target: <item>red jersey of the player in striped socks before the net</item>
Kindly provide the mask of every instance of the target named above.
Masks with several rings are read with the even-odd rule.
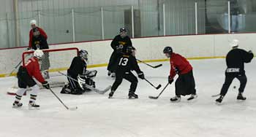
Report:
[[[34,77],[37,79],[39,82],[45,82],[45,79],[42,77],[42,74],[39,69],[39,63],[38,63],[38,58],[32,57],[29,58],[28,62],[26,62],[25,66],[26,70],[29,73],[30,77]]]

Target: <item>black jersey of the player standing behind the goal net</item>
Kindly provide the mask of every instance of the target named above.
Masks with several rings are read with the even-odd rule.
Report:
[[[32,38],[32,49],[37,50],[37,45],[39,46],[39,50],[49,49],[48,42],[45,37],[42,35],[33,36]]]

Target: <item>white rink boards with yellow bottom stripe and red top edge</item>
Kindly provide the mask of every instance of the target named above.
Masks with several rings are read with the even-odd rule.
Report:
[[[242,49],[256,52],[256,34],[159,36],[132,39],[132,43],[137,48],[137,58],[150,62],[166,60],[162,54],[166,46],[173,47],[174,52],[189,59],[225,58],[232,39],[238,39]],[[106,66],[113,51],[110,42],[111,40],[55,44],[50,45],[50,49],[78,47],[88,50],[91,67]],[[18,64],[24,50],[26,47],[0,50],[0,77],[5,77]]]

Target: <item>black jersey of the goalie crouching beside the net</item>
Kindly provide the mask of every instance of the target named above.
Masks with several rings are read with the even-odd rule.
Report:
[[[67,73],[72,77],[78,77],[78,74],[83,74],[86,71],[87,64],[80,57],[75,57],[67,70]]]

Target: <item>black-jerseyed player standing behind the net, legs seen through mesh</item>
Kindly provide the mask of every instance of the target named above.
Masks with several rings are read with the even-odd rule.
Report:
[[[33,28],[32,32],[33,32],[33,37],[31,40],[31,48],[33,50],[49,49],[48,42],[46,41],[45,36],[43,36],[40,33],[39,28]],[[45,52],[41,60],[42,60],[42,63],[41,63],[40,71],[42,72],[43,77],[45,77],[45,79],[49,79],[50,78],[48,74],[48,69],[50,68],[49,53]]]

